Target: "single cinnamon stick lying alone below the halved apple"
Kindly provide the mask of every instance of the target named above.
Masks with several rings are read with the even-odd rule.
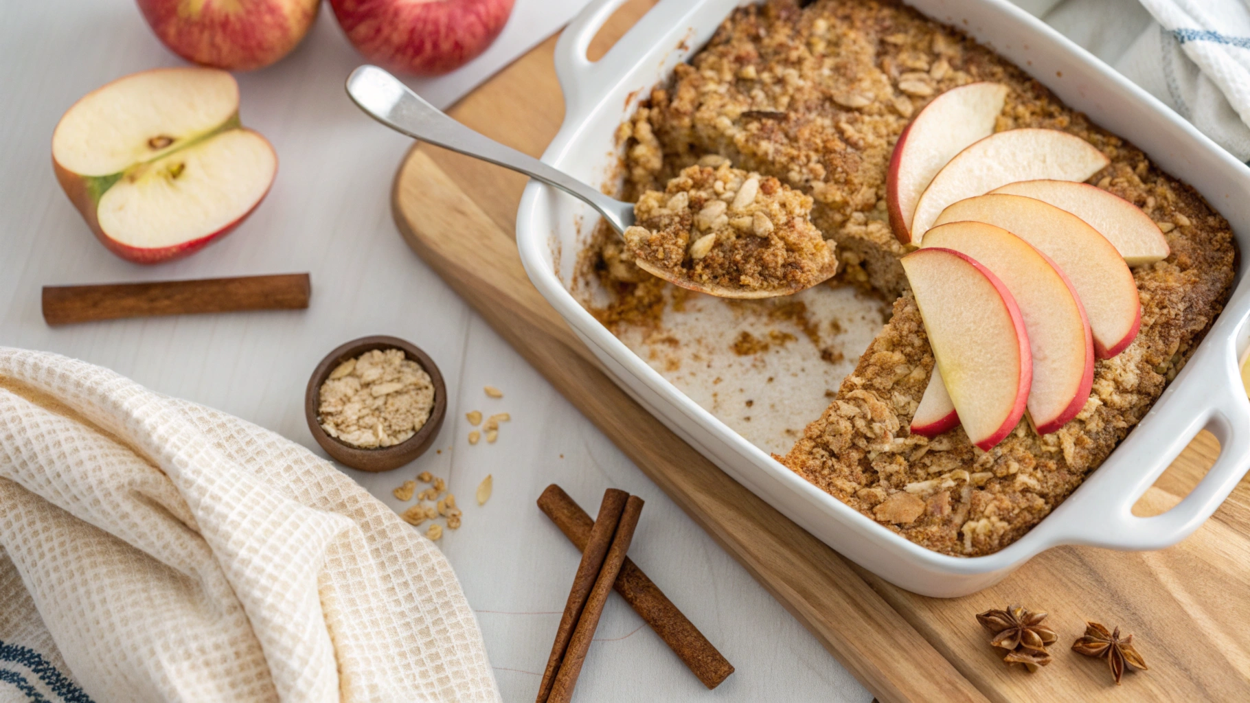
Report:
[[[44,321],[55,326],[121,317],[299,310],[309,306],[311,292],[308,273],[44,286]]]

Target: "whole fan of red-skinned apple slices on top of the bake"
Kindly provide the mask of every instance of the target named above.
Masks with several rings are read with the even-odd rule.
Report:
[[[1080,413],[1094,363],[1141,326],[1130,266],[1168,238],[1131,202],[1084,182],[1109,160],[1044,129],[995,132],[1006,86],[934,99],[900,135],[886,180],[890,226],[938,363],[911,421],[958,425],[989,451],[1028,412],[1039,435]]]

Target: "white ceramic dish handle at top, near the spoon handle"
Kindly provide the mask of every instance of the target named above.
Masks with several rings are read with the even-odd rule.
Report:
[[[628,65],[618,66],[621,55],[616,46],[598,61],[586,59],[590,41],[625,2],[626,0],[594,0],[569,22],[556,41],[555,75],[564,91],[566,121],[568,115],[584,115],[586,107],[599,102],[602,92],[615,82],[615,79],[609,77],[611,74],[624,74],[629,69]]]

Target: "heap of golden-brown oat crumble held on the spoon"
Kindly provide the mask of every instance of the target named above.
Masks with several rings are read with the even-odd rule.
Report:
[[[635,263],[731,297],[786,295],[832,277],[838,260],[809,220],[811,196],[721,156],[702,162],[638,199],[636,224],[624,232]]]

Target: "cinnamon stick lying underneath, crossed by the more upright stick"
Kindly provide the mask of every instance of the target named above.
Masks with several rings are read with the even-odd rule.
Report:
[[[574,547],[586,548],[595,522],[562,488],[555,483],[548,486],[539,496],[539,508],[551,518]],[[721,656],[629,557],[621,564],[621,572],[612,587],[704,686],[716,688],[734,673],[734,666],[729,659]]]

